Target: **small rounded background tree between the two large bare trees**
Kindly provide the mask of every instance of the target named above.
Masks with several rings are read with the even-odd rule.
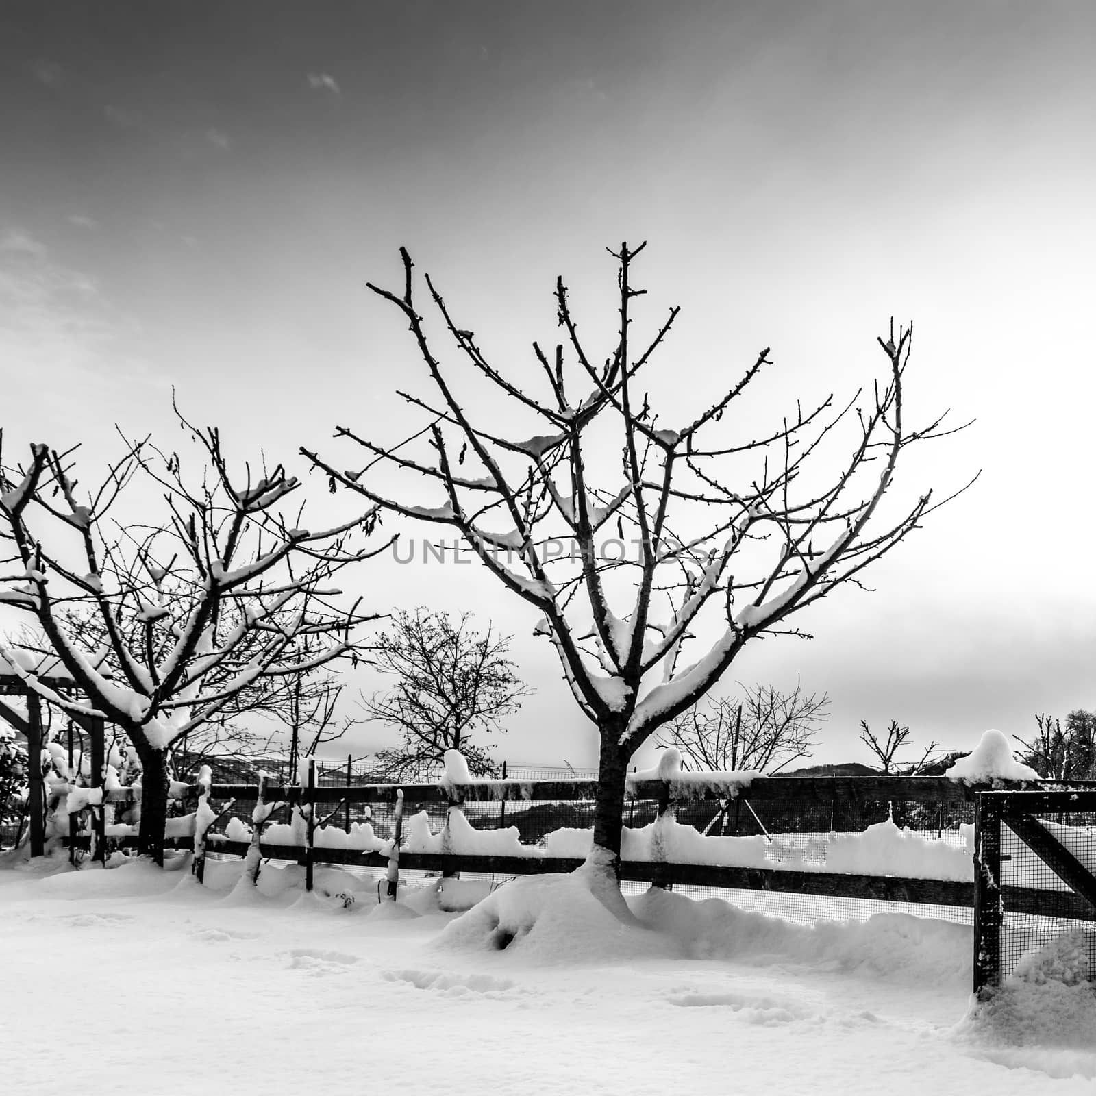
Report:
[[[490,747],[471,737],[503,730],[501,720],[521,707],[529,689],[507,658],[510,638],[480,633],[471,616],[416,608],[396,613],[376,640],[375,667],[395,678],[373,695],[370,718],[400,733],[400,743],[376,753],[385,780],[424,780],[437,775],[446,750],[459,750],[475,776],[496,776]]]

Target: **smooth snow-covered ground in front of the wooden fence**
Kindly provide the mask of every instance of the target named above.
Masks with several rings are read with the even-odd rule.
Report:
[[[378,905],[373,878],[321,869],[306,894],[266,867],[243,890],[239,861],[209,861],[201,887],[186,860],[0,870],[5,1096],[1096,1092],[1068,949],[971,1021],[961,924],[811,927],[652,891],[629,925],[579,877],[461,915],[433,886]]]

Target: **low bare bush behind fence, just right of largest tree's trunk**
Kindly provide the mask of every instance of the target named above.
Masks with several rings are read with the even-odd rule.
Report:
[[[746,687],[742,698],[709,697],[675,716],[655,734],[663,746],[676,746],[696,769],[756,769],[773,775],[811,755],[830,696],[804,694],[801,683],[790,693],[773,685]]]

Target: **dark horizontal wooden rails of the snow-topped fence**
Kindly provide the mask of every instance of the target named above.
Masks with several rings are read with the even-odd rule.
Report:
[[[1096,784],[1092,785],[1096,787]],[[1059,790],[1062,785],[1051,781],[1038,784],[1011,783],[1014,789],[1036,788]],[[1071,785],[1070,787],[1075,787]],[[55,785],[55,791],[64,790]],[[592,780],[478,780],[460,785],[415,785],[398,788],[395,785],[364,785],[356,787],[318,787],[269,785],[213,785],[208,790],[198,785],[189,787],[184,795],[184,807],[193,810],[201,797],[217,813],[226,817],[233,803],[260,802],[266,806],[277,803],[302,809],[308,824],[302,844],[275,844],[262,838],[263,824],[254,826],[251,842],[228,841],[213,832],[203,832],[198,842],[192,837],[169,842],[176,848],[194,848],[195,871],[202,877],[205,857],[209,853],[228,856],[246,856],[253,846],[262,858],[295,861],[305,866],[307,886],[312,883],[312,868],[317,864],[350,865],[383,868],[391,872],[398,870],[433,871],[445,875],[457,872],[492,874],[518,876],[540,872],[566,872],[579,867],[582,858],[555,856],[505,856],[487,854],[460,854],[455,852],[422,853],[410,852],[396,845],[396,855],[355,848],[332,848],[316,845],[316,808],[321,804],[338,803],[330,815],[340,813],[351,804],[388,804],[398,800],[407,807],[442,806],[463,808],[470,803],[493,803],[500,807],[500,817],[507,803],[522,802],[569,802],[594,799],[596,781]],[[813,808],[815,817],[852,817],[876,814],[888,807],[904,808],[906,813],[916,808],[932,807],[937,817],[941,809],[952,820],[974,820],[974,801],[980,791],[987,788],[967,786],[941,777],[757,777],[749,785],[737,781],[712,780],[689,783],[687,780],[630,781],[629,795],[635,802],[657,804],[657,814],[676,812],[685,804],[706,801],[726,809],[728,804],[749,804],[751,813],[768,807],[802,811]],[[104,792],[109,803],[132,802],[132,789]],[[220,806],[218,806],[220,804]],[[69,844],[89,844],[102,855],[105,847],[102,810],[92,808],[98,815],[92,826],[98,834],[90,843],[87,838]],[[218,813],[219,812],[219,813]],[[895,812],[898,813],[898,812]],[[349,810],[347,819],[349,829]],[[406,817],[406,814],[404,814]],[[755,814],[756,817],[756,814]],[[886,817],[886,814],[883,815]],[[250,820],[249,820],[250,822]],[[957,823],[955,823],[957,825]],[[813,829],[813,827],[812,827]],[[827,827],[832,829],[832,827]],[[817,829],[813,832],[818,832]],[[255,840],[258,838],[258,840]],[[397,842],[398,842],[397,835]],[[129,841],[121,844],[132,844]],[[197,847],[195,848],[195,844]],[[732,890],[772,891],[826,898],[868,899],[907,903],[925,903],[944,906],[974,906],[973,872],[971,880],[945,880],[907,878],[894,875],[853,875],[836,871],[789,870],[774,867],[734,867],[716,864],[674,863],[670,860],[624,860],[620,865],[624,880],[651,882],[659,886],[690,884]],[[1068,891],[1032,888],[1005,888],[1011,910],[1042,916],[1087,916],[1087,902]],[[395,891],[393,891],[395,893]]]

